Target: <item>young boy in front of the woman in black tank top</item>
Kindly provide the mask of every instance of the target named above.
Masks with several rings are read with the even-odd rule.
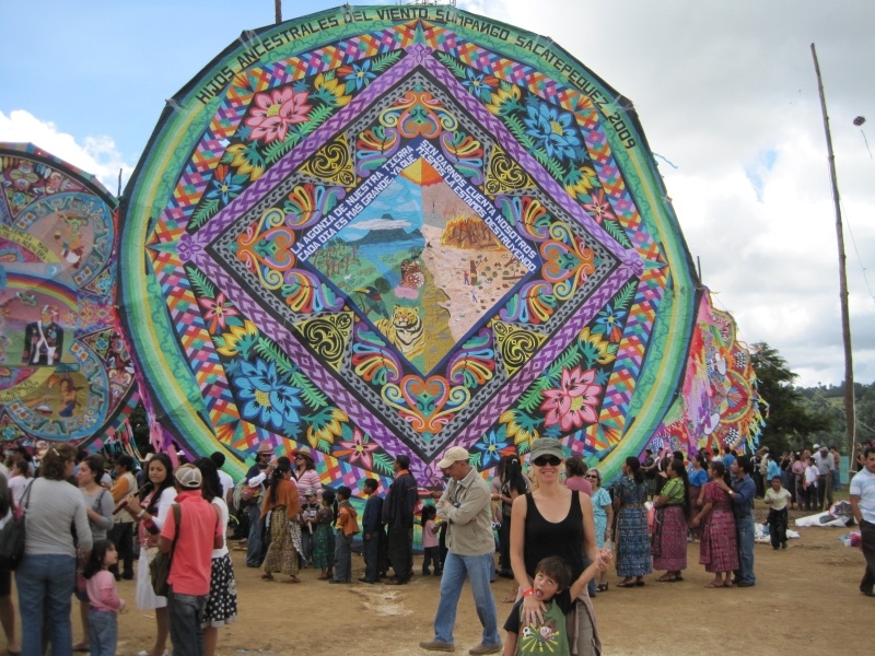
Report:
[[[602,559],[604,569],[610,564],[609,561],[610,557]],[[514,604],[511,616],[504,622],[508,635],[503,656],[521,654],[569,656],[565,614],[573,608],[574,600],[597,572],[597,563],[593,563],[572,583],[571,569],[563,559],[550,555],[541,560],[535,567],[535,582]],[[542,621],[536,618],[533,622],[526,622],[522,617],[523,602],[529,595],[540,601],[545,609],[541,611]]]

